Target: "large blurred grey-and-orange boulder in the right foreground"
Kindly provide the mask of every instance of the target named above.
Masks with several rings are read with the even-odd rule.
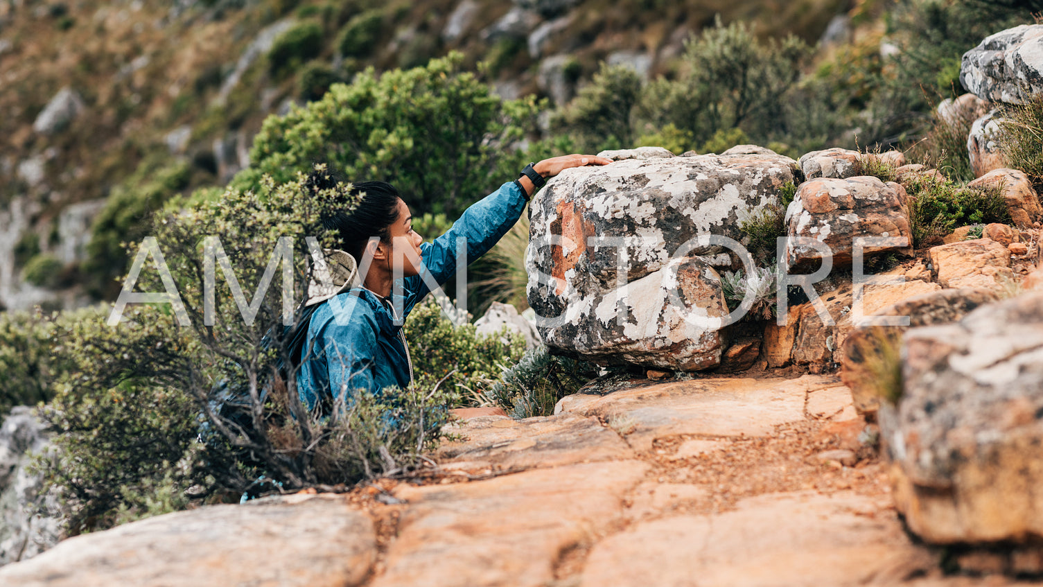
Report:
[[[931,543],[1043,538],[1043,292],[905,335],[903,393],[881,408],[895,503]]]

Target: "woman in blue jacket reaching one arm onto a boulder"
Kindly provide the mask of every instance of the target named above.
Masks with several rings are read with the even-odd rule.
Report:
[[[316,267],[322,285],[313,280],[309,287],[306,303],[318,307],[311,314],[299,357],[297,389],[301,401],[309,408],[337,399],[349,406],[358,389],[378,392],[388,386],[408,387],[413,367],[401,324],[431,291],[421,275],[430,273],[429,279],[439,285],[454,276],[459,237],[467,241],[468,265],[482,256],[517,222],[526,202],[545,178],[571,167],[610,162],[573,154],[530,164],[517,180],[504,184],[472,204],[447,233],[430,244],[422,243],[413,230],[409,206],[392,186],[383,181],[355,184],[353,193],[365,193],[359,205],[349,213],[338,212],[322,219],[326,228],[339,234],[343,250],[326,251],[325,263]],[[329,189],[338,180],[334,173],[316,170],[309,176],[308,187]],[[361,286],[353,286],[358,267],[365,268],[365,274]],[[394,284],[399,275],[404,278]],[[396,308],[403,311],[401,317]],[[503,411],[468,408],[454,413],[466,418]]]

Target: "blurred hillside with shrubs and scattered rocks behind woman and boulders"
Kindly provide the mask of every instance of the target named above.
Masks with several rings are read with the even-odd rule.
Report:
[[[960,175],[932,106],[1035,4],[3,0],[0,308],[113,299],[153,211],[317,158],[401,184],[432,236],[571,150],[898,146]]]

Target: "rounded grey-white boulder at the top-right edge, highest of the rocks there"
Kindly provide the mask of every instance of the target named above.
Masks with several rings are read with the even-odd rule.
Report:
[[[1008,104],[1023,104],[1043,92],[1043,25],[987,36],[964,53],[960,82],[984,100]]]

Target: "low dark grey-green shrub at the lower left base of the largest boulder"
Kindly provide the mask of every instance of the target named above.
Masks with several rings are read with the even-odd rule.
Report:
[[[550,416],[559,399],[579,391],[598,372],[592,363],[553,356],[540,345],[504,370],[489,399],[512,418]]]

